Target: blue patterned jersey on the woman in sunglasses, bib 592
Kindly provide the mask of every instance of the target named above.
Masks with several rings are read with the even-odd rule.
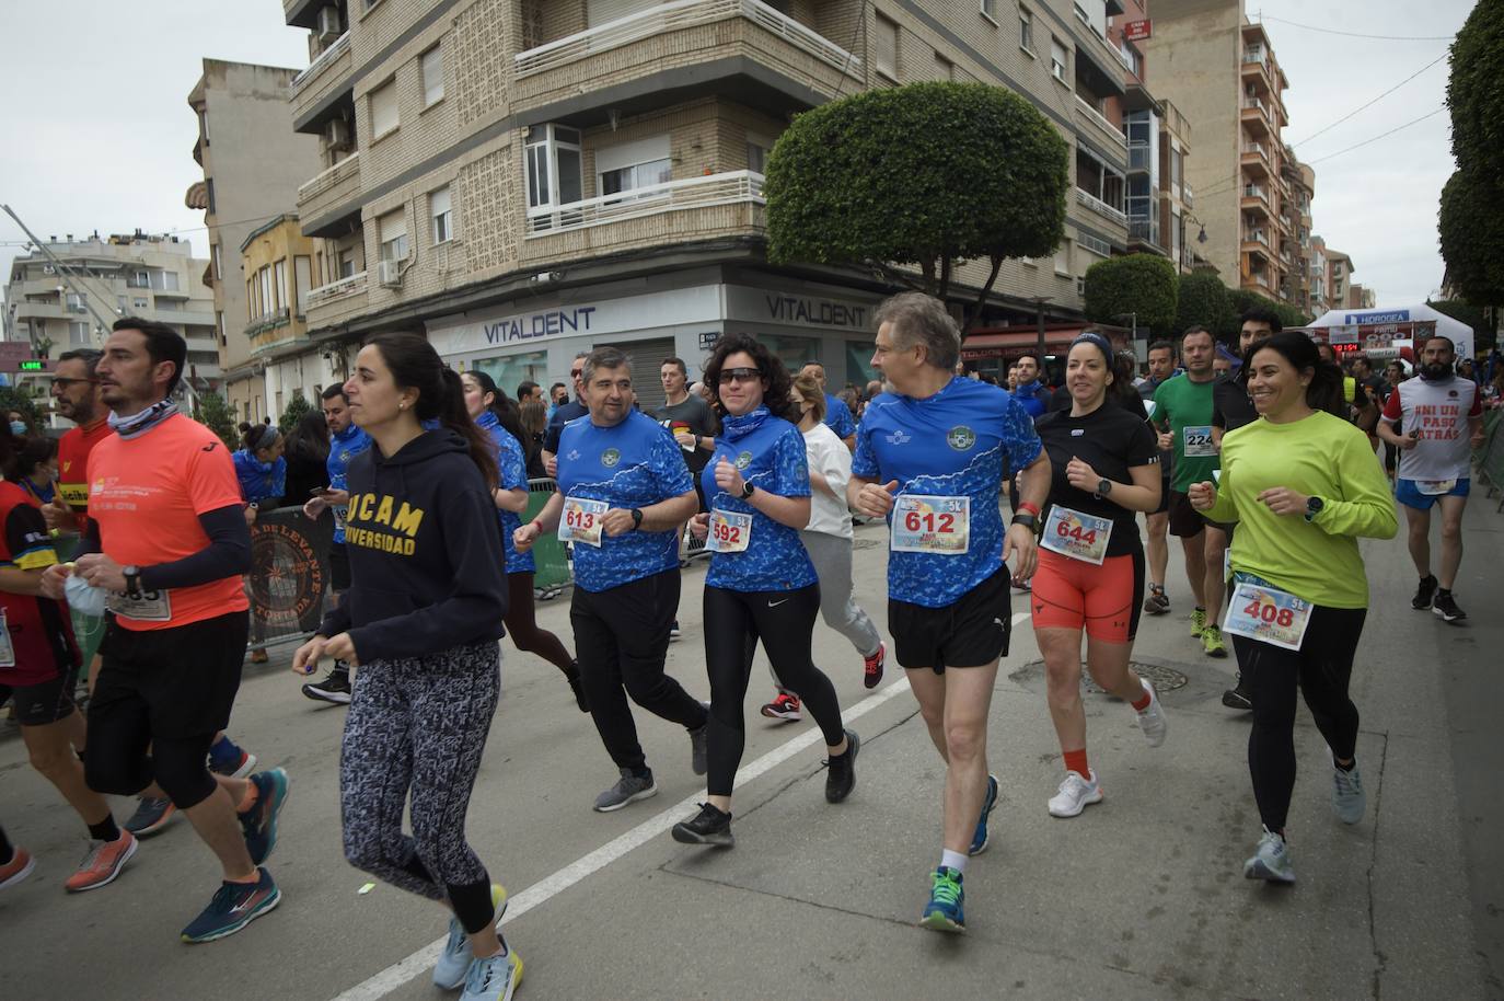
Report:
[[[791,592],[815,583],[815,566],[805,552],[799,530],[781,525],[750,503],[716,486],[716,467],[725,459],[741,479],[779,497],[809,497],[809,459],[799,427],[758,406],[728,417],[716,438],[716,453],[699,474],[711,510],[752,515],[752,536],[743,552],[710,557],[705,584],[737,592]]]

